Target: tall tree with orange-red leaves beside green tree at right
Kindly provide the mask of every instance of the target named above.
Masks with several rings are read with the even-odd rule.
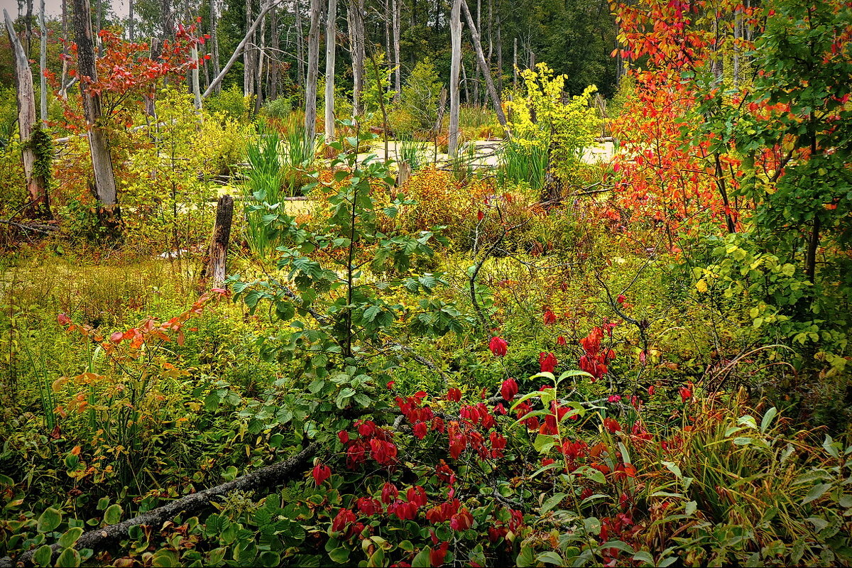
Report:
[[[614,163],[619,208],[655,221],[672,245],[678,232],[702,221],[723,222],[734,232],[739,204],[731,190],[739,160],[718,147],[692,109],[708,88],[722,86],[724,54],[746,49],[733,31],[751,11],[734,0],[643,0],[613,8],[617,51],[633,62],[628,76],[635,85],[612,125],[621,142]]]

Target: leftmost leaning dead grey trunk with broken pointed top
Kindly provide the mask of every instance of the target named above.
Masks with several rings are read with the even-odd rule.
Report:
[[[18,130],[21,142],[21,161],[24,164],[26,177],[26,192],[30,197],[29,211],[32,216],[45,218],[50,216],[50,201],[47,180],[43,172],[37,171],[36,148],[32,146],[32,135],[39,128],[36,118],[36,93],[32,86],[32,72],[29,60],[26,59],[24,46],[14,32],[9,12],[3,10],[6,20],[6,33],[12,46],[14,57],[15,92],[18,101]]]

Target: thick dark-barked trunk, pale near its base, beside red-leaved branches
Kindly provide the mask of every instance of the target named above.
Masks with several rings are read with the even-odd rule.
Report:
[[[118,221],[118,196],[115,175],[112,171],[109,139],[107,131],[101,126],[101,95],[87,89],[83,81],[83,77],[89,77],[91,81],[98,80],[89,0],[74,0],[74,28],[83,112],[89,124],[89,151],[95,172],[95,198],[101,206],[101,222],[114,224]]]

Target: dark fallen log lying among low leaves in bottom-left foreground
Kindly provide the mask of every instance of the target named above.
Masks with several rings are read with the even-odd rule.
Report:
[[[165,504],[163,507],[155,508],[147,513],[136,515],[131,519],[124,520],[116,525],[105,526],[100,529],[84,532],[74,545],[75,548],[91,548],[92,550],[101,550],[112,542],[116,542],[125,536],[128,536],[131,526],[150,525],[159,527],[167,520],[174,518],[177,514],[184,513],[194,515],[204,509],[211,508],[213,501],[217,497],[225,496],[231,491],[252,491],[259,489],[268,490],[274,485],[279,485],[284,481],[292,479],[294,474],[301,471],[310,458],[314,456],[320,448],[318,442],[312,442],[304,450],[291,456],[284,462],[273,463],[266,468],[260,468],[254,472],[246,473],[244,476],[233,481],[228,481],[216,487],[210,487],[198,493],[181,497],[176,501]],[[50,547],[53,554],[57,554],[61,547],[54,544]],[[32,556],[35,550],[28,550],[21,554],[18,558],[12,559],[9,556],[0,559],[0,568],[12,568],[19,565],[32,565]],[[52,561],[52,559],[51,559]]]

